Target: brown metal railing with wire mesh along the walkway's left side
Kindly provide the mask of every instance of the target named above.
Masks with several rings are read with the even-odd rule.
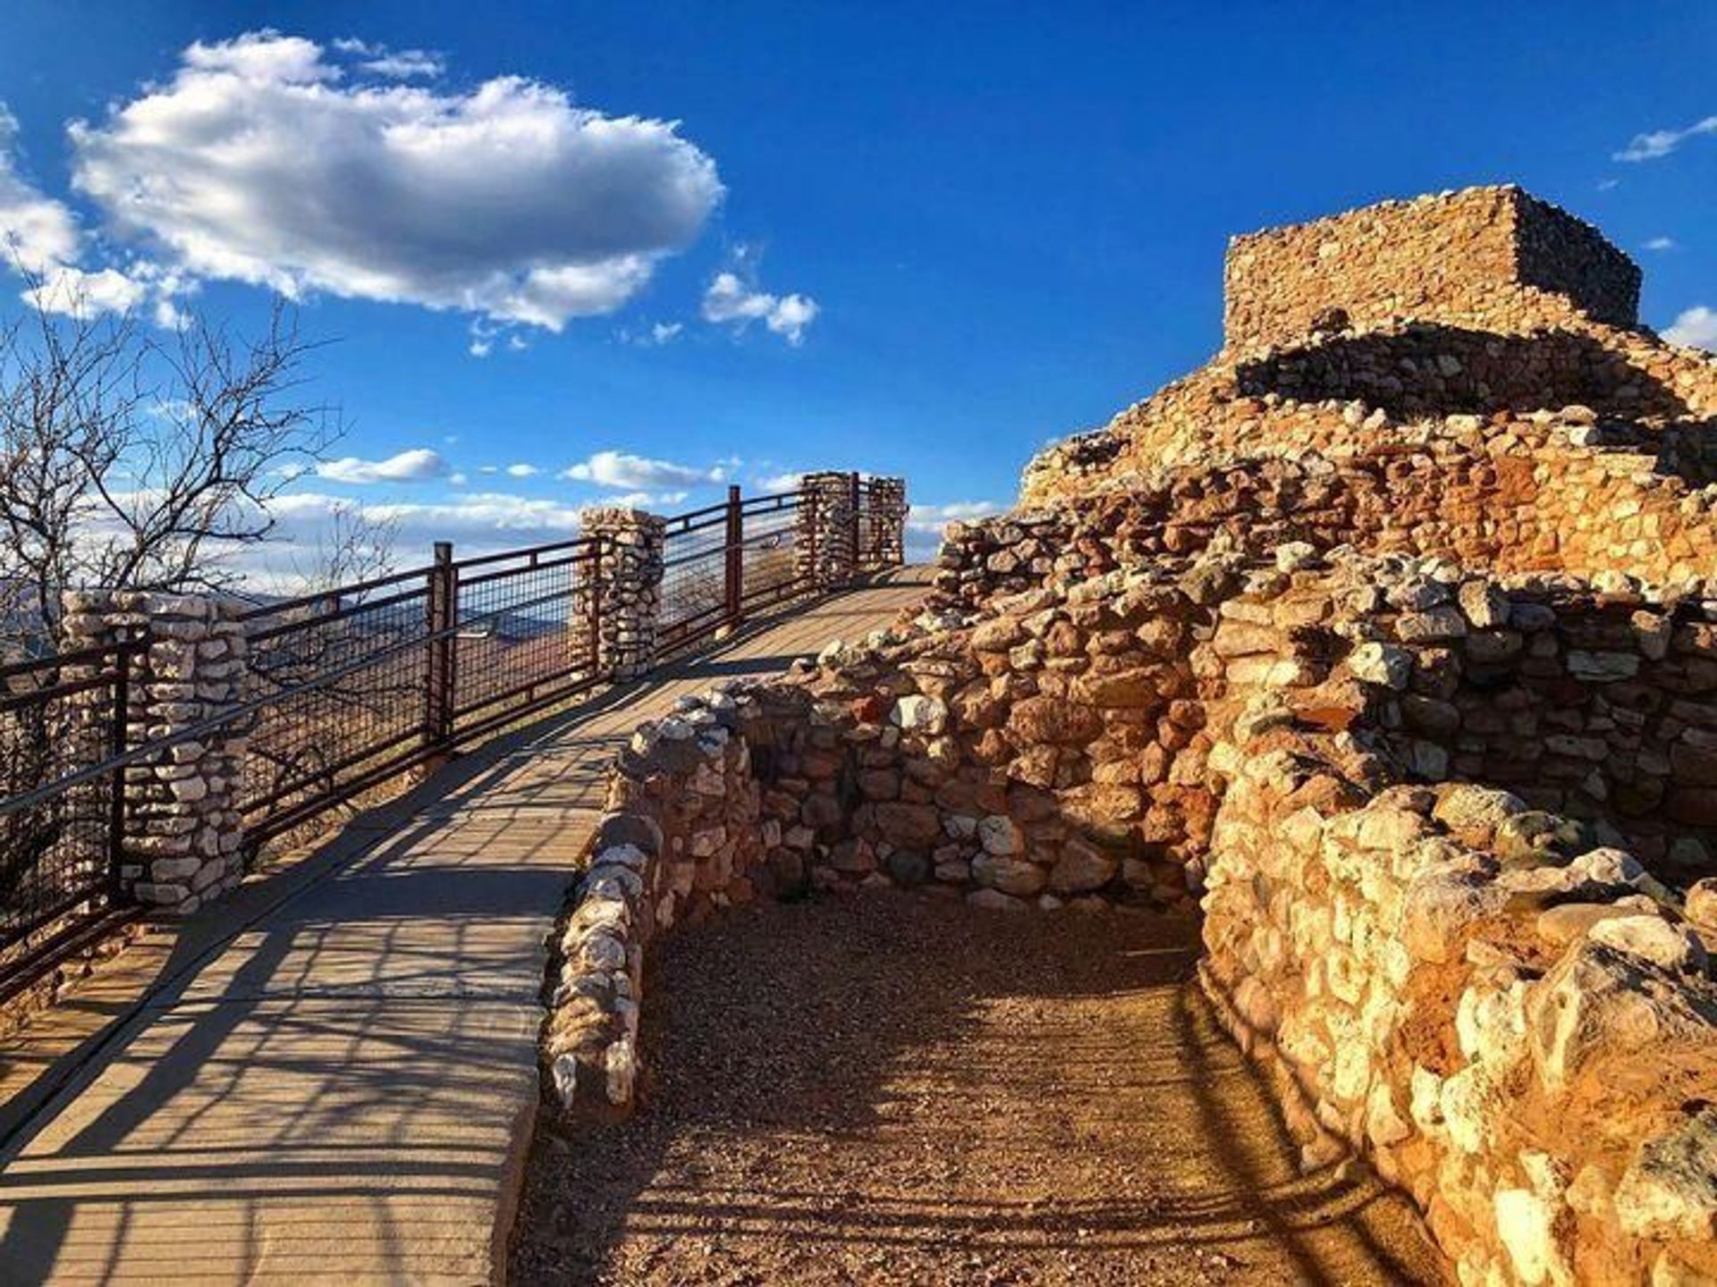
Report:
[[[853,475],[855,570],[886,561],[884,515]],[[740,494],[664,520],[656,656],[814,594],[809,492]],[[807,522],[809,520],[809,522]],[[877,534],[877,535],[872,535]],[[125,897],[127,793],[175,745],[242,748],[237,808],[247,848],[395,782],[611,678],[603,566],[585,535],[434,561],[237,614],[240,697],[170,736],[129,721],[148,638],[0,668],[0,999]],[[129,736],[127,736],[129,734]],[[141,858],[129,860],[141,863]],[[132,872],[136,875],[136,872]]]

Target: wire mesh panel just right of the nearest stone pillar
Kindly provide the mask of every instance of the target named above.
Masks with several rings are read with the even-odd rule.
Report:
[[[244,614],[242,810],[285,831],[422,757],[434,568]]]

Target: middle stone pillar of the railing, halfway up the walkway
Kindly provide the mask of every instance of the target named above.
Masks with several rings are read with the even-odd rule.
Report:
[[[635,680],[656,661],[668,523],[644,510],[599,508],[580,511],[579,525],[599,542],[592,580],[573,606],[582,645],[589,656],[594,630],[598,671]]]

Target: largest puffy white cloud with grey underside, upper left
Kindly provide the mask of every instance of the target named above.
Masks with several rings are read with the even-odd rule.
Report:
[[[338,65],[271,31],[196,43],[168,81],[70,127],[74,182],[192,276],[551,331],[620,307],[721,199],[673,122],[522,77],[452,93],[366,72],[403,65]]]

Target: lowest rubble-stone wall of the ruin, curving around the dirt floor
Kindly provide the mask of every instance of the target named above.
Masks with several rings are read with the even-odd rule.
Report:
[[[689,700],[616,765],[561,942],[555,1085],[573,1105],[630,1102],[647,944],[733,901],[1200,899],[1205,987],[1308,1163],[1368,1158],[1463,1280],[1696,1280],[1662,1275],[1717,1268],[1717,887],[1683,903],[1602,822],[1410,781],[1465,753],[1429,704],[1465,717],[1461,685],[1432,685],[1451,654],[1489,664],[1478,640],[1538,661],[1535,640],[1556,640],[1562,680],[1590,692],[1540,693],[1525,662],[1514,681],[1540,714],[1576,705],[1581,736],[1599,702],[1626,709],[1617,685],[1643,666],[1624,676],[1617,657],[1657,645],[1580,633],[1623,609],[1638,640],[1674,616],[1671,666],[1688,606],[1288,547],[925,613]]]

